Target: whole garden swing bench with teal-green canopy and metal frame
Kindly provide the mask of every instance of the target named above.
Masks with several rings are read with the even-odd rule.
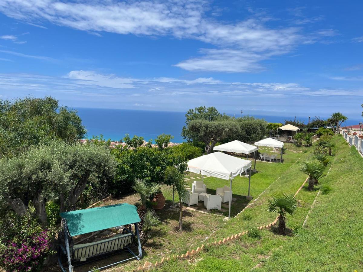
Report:
[[[66,269],[62,265],[62,254],[67,255],[69,272],[73,272],[73,266],[82,265],[126,250],[130,252],[132,257],[95,268],[89,272],[101,270],[128,260],[140,260],[142,258],[137,225],[140,222],[140,217],[134,205],[122,203],[85,210],[69,211],[61,213],[60,215],[64,223],[65,247],[61,245],[58,250],[58,263],[63,272],[66,272]],[[135,233],[131,230],[131,224],[134,224],[135,226]],[[121,226],[123,227],[122,232],[112,238],[86,244],[73,243],[73,236]],[[130,249],[130,246],[135,240],[137,240],[138,243],[138,255]]]

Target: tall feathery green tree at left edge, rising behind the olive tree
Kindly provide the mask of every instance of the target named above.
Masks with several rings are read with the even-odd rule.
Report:
[[[74,144],[86,130],[77,111],[51,97],[0,99],[0,157],[13,157],[31,145],[62,140]]]

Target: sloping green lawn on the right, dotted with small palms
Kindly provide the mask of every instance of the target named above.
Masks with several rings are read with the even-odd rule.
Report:
[[[334,141],[337,143],[335,156],[331,157],[334,162],[329,174],[321,180],[321,194],[304,228],[302,224],[318,193],[318,188],[307,191],[307,184],[297,195],[297,213],[287,218],[287,227],[291,231],[289,235],[280,236],[272,230],[261,230],[260,239],[245,235],[226,245],[208,246],[190,263],[171,260],[161,270],[250,271],[262,262],[257,269],[263,271],[362,271],[363,159],[354,147],[350,149],[345,144],[342,137],[334,136]],[[291,194],[297,191],[306,175],[299,171],[296,158],[299,161],[309,158],[311,149],[307,150],[298,152],[294,148],[297,151],[292,152],[297,156],[295,163],[287,161],[282,166],[287,166],[285,169],[278,169],[276,165],[272,175],[282,170],[282,174],[277,175],[280,178],[276,182],[268,182],[271,186],[256,203],[228,221],[208,242],[272,222],[276,215],[266,211],[266,199],[276,191]],[[287,151],[286,160],[289,157],[293,156],[289,156]]]

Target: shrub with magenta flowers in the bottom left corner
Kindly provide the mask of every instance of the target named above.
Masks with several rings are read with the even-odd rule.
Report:
[[[50,233],[28,215],[1,221],[0,266],[7,271],[41,271],[50,250]]]

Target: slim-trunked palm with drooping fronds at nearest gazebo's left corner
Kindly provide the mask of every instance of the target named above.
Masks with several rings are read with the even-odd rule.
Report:
[[[167,185],[174,185],[179,195],[179,232],[183,230],[183,198],[189,197],[189,191],[185,189],[187,182],[184,180],[184,174],[180,173],[178,168],[168,166],[164,173],[164,182]]]

